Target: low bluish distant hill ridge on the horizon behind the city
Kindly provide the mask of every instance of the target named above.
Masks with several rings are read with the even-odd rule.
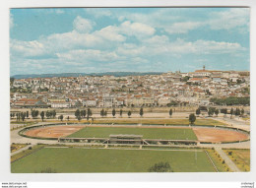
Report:
[[[52,77],[79,77],[79,76],[143,76],[143,75],[160,75],[162,72],[105,72],[105,73],[58,73],[58,74],[31,74],[31,75],[14,75],[11,78],[29,79],[29,78],[52,78]]]

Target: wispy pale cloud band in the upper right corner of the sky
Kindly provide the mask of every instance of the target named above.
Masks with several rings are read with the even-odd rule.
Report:
[[[150,13],[121,12],[115,16],[120,22],[131,21],[151,26],[155,29],[172,33],[187,33],[199,27],[210,30],[236,29],[240,32],[248,31],[249,9],[230,8],[218,11],[203,11],[204,9],[156,9]],[[200,14],[199,14],[200,13]]]

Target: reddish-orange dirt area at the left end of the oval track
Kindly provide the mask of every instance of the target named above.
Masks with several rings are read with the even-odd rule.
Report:
[[[41,138],[59,138],[66,137],[72,133],[79,131],[85,126],[55,126],[55,127],[41,127],[37,129],[29,130],[25,133],[27,136],[31,137],[41,137]]]

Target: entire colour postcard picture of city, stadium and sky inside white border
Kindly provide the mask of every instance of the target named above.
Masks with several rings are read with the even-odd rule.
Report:
[[[249,8],[10,9],[11,173],[249,172]]]

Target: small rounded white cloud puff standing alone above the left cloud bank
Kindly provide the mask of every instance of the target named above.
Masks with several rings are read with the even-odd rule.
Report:
[[[73,22],[74,30],[78,32],[90,32],[93,30],[94,25],[95,23],[80,16],[78,16]]]

